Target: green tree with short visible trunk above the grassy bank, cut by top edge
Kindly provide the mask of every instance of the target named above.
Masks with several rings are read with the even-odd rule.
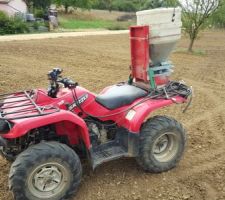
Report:
[[[65,8],[65,13],[68,13],[69,7],[73,8],[91,8],[94,0],[55,0],[57,5],[62,5]]]

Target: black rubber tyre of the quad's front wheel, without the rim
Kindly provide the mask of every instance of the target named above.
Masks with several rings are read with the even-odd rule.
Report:
[[[58,142],[41,142],[31,146],[22,152],[12,164],[9,173],[9,189],[14,194],[16,200],[32,200],[25,194],[24,176],[27,175],[29,165],[38,164],[43,159],[49,157],[61,158],[69,164],[73,181],[69,190],[62,199],[70,198],[78,189],[81,182],[82,167],[78,155],[65,144]]]

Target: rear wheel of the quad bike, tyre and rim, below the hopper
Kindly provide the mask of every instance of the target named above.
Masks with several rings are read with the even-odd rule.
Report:
[[[186,133],[175,119],[155,116],[140,133],[138,164],[147,172],[161,173],[176,167],[186,145]]]

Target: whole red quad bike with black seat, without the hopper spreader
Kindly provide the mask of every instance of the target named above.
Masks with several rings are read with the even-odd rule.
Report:
[[[9,187],[15,199],[70,198],[81,182],[81,157],[93,169],[121,157],[134,157],[154,173],[177,165],[186,142],[183,126],[149,116],[186,102],[189,87],[168,81],[147,89],[132,77],[95,95],[61,73],[49,72],[48,90],[0,95],[1,153],[13,161]]]

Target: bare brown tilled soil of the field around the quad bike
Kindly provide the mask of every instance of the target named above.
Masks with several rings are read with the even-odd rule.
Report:
[[[182,39],[180,48],[188,46]],[[196,48],[206,55],[176,52],[174,79],[195,90],[191,109],[165,108],[186,127],[189,142],[174,170],[143,172],[134,159],[106,163],[84,176],[76,200],[224,200],[225,199],[225,34],[205,32]],[[0,43],[0,92],[46,87],[46,73],[61,66],[65,76],[95,92],[129,74],[128,35],[89,36]],[[157,114],[158,114],[157,113]],[[12,199],[7,186],[9,164],[0,160],[0,199]]]

